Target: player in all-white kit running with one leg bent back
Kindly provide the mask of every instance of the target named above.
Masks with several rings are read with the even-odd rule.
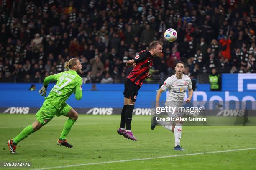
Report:
[[[184,69],[184,63],[182,61],[176,63],[176,74],[167,78],[164,84],[157,91],[156,108],[159,107],[159,99],[161,97],[162,92],[164,92],[167,89],[169,90],[169,95],[166,98],[165,107],[182,107],[182,102],[184,100],[185,92],[187,89],[189,92],[188,98],[185,100],[185,102],[190,102],[193,95],[192,84],[191,79],[187,75],[183,74]],[[157,121],[156,116],[154,116],[151,124],[151,129],[153,130],[157,124],[160,124],[164,126],[164,128],[166,128],[167,130],[172,130],[175,139],[174,150],[185,150],[180,146],[180,138],[182,133],[182,114],[177,111],[167,113],[168,117],[174,118],[174,122]]]

